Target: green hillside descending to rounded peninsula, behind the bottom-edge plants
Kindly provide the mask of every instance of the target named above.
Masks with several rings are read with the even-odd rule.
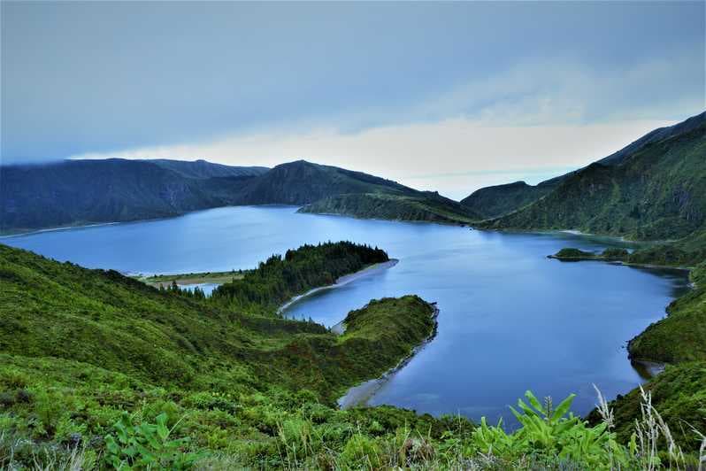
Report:
[[[342,446],[405,424],[434,436],[446,428],[392,408],[330,407],[432,333],[434,309],[418,297],[372,302],[335,336],[4,245],[0,278],[0,464],[10,447],[26,464],[44,444],[99,452],[122,411],[152,423],[166,413],[190,440],[182,451],[220,450],[231,466],[282,466],[282,429],[311,428]]]

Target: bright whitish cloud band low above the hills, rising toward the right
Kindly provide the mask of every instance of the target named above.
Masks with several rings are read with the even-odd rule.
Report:
[[[572,61],[518,64],[395,109],[361,109],[336,126],[249,129],[200,143],[147,146],[76,158],[205,158],[275,166],[305,158],[464,197],[490,184],[536,183],[586,166],[656,127],[702,112],[703,97],[674,95],[673,70],[693,51],[612,74]],[[698,71],[681,82],[698,89]],[[689,81],[693,81],[689,85]],[[375,125],[361,126],[365,120]]]

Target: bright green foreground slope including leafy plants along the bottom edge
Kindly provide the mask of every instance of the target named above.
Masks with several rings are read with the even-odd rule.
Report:
[[[228,290],[238,299],[248,280],[245,290],[280,286],[279,296],[294,285],[266,274],[282,281],[289,266],[307,280],[308,264],[334,253],[342,255],[326,269],[384,254],[305,246]],[[568,413],[572,398],[555,407],[528,392],[511,434],[394,407],[336,409],[349,386],[395,367],[434,334],[434,306],[419,297],[371,301],[336,336],[255,309],[249,297],[242,305],[251,310],[2,245],[0,278],[3,467],[639,469],[691,459],[676,448],[653,453],[642,439],[671,435],[644,419],[655,429],[624,445],[610,417],[589,425]],[[684,437],[690,447],[693,436]]]

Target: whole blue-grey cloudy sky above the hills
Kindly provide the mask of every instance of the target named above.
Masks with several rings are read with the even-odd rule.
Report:
[[[4,1],[0,157],[536,183],[706,109],[704,5]]]

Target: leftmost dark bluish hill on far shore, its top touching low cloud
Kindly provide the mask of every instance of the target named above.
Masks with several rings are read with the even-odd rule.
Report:
[[[111,158],[0,167],[0,231],[142,220],[237,202],[266,169]]]

